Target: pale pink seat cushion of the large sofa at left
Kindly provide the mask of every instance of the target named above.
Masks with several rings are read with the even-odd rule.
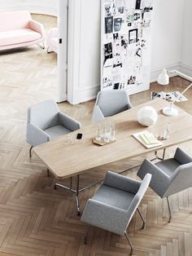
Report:
[[[0,46],[8,46],[22,42],[35,41],[41,38],[41,33],[32,29],[15,29],[0,32]]]

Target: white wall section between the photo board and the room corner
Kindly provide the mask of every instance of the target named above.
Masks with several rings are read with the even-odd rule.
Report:
[[[184,0],[154,0],[151,81],[162,68],[178,68],[181,61],[183,3]]]

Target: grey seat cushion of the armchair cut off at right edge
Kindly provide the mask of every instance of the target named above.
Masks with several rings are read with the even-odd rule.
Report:
[[[180,165],[181,164],[173,158],[167,159],[164,161],[159,161],[158,163],[155,164],[155,166],[158,166],[161,170],[163,170],[166,174],[168,174],[169,177],[172,176],[172,173]]]

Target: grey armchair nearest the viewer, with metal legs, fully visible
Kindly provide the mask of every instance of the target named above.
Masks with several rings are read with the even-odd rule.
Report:
[[[120,174],[107,172],[103,184],[92,199],[87,201],[81,221],[103,228],[118,235],[125,235],[131,246],[130,255],[133,254],[133,245],[129,240],[126,229],[137,210],[145,227],[145,220],[137,208],[151,181],[151,174],[146,174],[142,183],[129,179]],[[85,236],[87,241],[88,230]]]

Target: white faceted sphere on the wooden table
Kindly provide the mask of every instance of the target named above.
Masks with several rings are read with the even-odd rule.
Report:
[[[137,121],[142,126],[153,126],[157,121],[157,118],[158,115],[155,108],[152,108],[150,106],[140,108],[137,113]]]

